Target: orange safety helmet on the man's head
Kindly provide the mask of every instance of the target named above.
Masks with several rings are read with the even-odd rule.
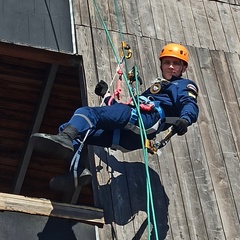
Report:
[[[176,57],[183,60],[188,65],[188,50],[181,44],[169,43],[164,46],[160,52],[160,60],[163,57]]]

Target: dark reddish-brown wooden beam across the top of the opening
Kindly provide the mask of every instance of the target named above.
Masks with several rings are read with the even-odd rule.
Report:
[[[82,61],[79,55],[3,41],[0,42],[0,55],[72,67],[78,66]]]

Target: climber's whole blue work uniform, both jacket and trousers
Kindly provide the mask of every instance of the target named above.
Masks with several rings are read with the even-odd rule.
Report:
[[[177,78],[161,84],[158,91],[154,84],[141,94],[156,105],[160,105],[166,117],[184,118],[189,125],[196,122],[198,117],[197,94],[198,88],[194,82],[188,79]],[[108,100],[108,99],[106,99]],[[139,134],[126,129],[132,117],[134,107],[115,100],[110,106],[103,107],[81,107],[78,108],[68,123],[60,126],[60,131],[68,124],[75,127],[79,135],[84,137],[90,129],[86,144],[101,147],[112,147],[114,132],[119,131],[118,145],[122,151],[132,151],[142,148]],[[156,108],[150,111],[141,111],[142,122],[145,129],[150,129],[159,122],[160,113]],[[164,119],[156,131],[147,134],[148,139],[156,137],[160,131],[168,126],[164,125]],[[136,121],[136,125],[138,121]]]

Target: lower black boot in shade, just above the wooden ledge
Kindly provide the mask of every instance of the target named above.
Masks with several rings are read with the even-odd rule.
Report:
[[[76,181],[75,181],[76,180]],[[92,181],[91,172],[85,168],[82,173],[74,179],[73,172],[69,172],[67,175],[56,176],[50,180],[50,187],[56,191],[67,192],[74,188],[85,186]],[[75,185],[75,182],[77,185]]]

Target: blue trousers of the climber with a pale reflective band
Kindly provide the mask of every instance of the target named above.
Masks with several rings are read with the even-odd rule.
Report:
[[[131,117],[132,107],[123,103],[115,103],[111,106],[103,107],[81,107],[78,108],[69,122],[60,126],[60,131],[68,124],[75,127],[79,135],[84,137],[90,129],[86,144],[101,147],[111,147],[115,129],[121,129],[119,145],[126,150],[136,150],[142,148],[141,137],[124,127]],[[160,118],[155,110],[141,113],[142,121],[146,129],[153,126]],[[152,139],[156,136],[153,133],[148,136]]]

